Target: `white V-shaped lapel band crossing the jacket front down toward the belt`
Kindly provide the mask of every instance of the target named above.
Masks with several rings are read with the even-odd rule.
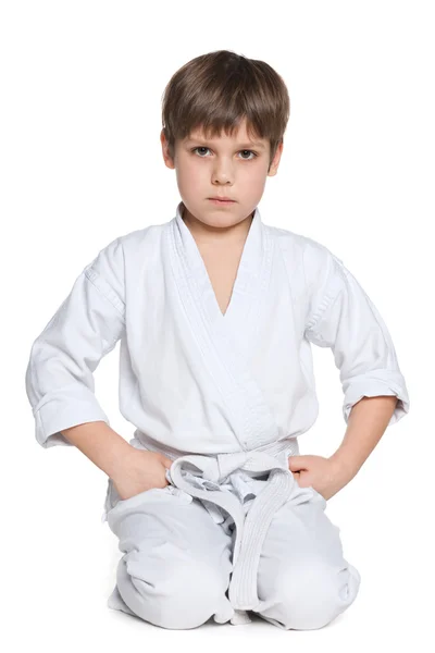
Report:
[[[171,263],[178,295],[200,354],[244,449],[278,438],[277,426],[248,365],[260,320],[266,319],[273,239],[257,208],[241,255],[232,299],[223,316],[195,238],[182,218],[183,202],[169,223]]]

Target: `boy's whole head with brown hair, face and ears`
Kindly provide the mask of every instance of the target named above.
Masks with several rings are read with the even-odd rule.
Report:
[[[225,227],[252,213],[276,174],[289,111],[282,77],[228,50],[196,57],[172,76],[160,139],[188,214]],[[234,202],[210,200],[222,196]]]

